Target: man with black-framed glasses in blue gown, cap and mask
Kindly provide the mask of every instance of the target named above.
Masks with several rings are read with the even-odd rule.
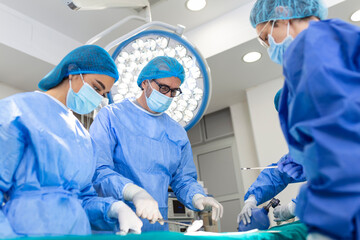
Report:
[[[168,187],[192,210],[223,207],[197,182],[191,146],[184,128],[164,113],[181,94],[184,68],[174,58],[156,57],[141,71],[138,99],[102,108],[90,127],[104,157],[98,159],[94,187],[101,196],[125,200],[143,218],[142,231],[168,229]],[[160,223],[159,223],[160,222]]]

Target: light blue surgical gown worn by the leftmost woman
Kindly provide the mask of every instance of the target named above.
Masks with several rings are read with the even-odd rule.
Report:
[[[0,237],[113,229],[115,200],[97,196],[93,143],[76,117],[41,92],[0,100]],[[90,222],[89,222],[90,220]]]

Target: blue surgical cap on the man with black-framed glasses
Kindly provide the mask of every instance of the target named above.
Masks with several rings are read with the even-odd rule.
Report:
[[[183,66],[175,58],[156,57],[141,70],[137,84],[140,87],[141,83],[145,80],[167,77],[177,77],[180,79],[181,84],[183,84],[185,79]]]

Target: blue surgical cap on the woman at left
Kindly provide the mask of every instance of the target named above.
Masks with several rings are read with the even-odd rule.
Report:
[[[102,74],[115,79],[119,73],[109,53],[96,45],[85,45],[72,50],[38,84],[43,91],[56,87],[69,75]]]

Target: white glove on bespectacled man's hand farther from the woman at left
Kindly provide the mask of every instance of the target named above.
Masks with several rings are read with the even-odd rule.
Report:
[[[212,209],[212,220],[218,221],[222,218],[224,208],[218,201],[215,200],[215,198],[205,197],[202,194],[195,194],[192,203],[193,206],[200,211]]]

